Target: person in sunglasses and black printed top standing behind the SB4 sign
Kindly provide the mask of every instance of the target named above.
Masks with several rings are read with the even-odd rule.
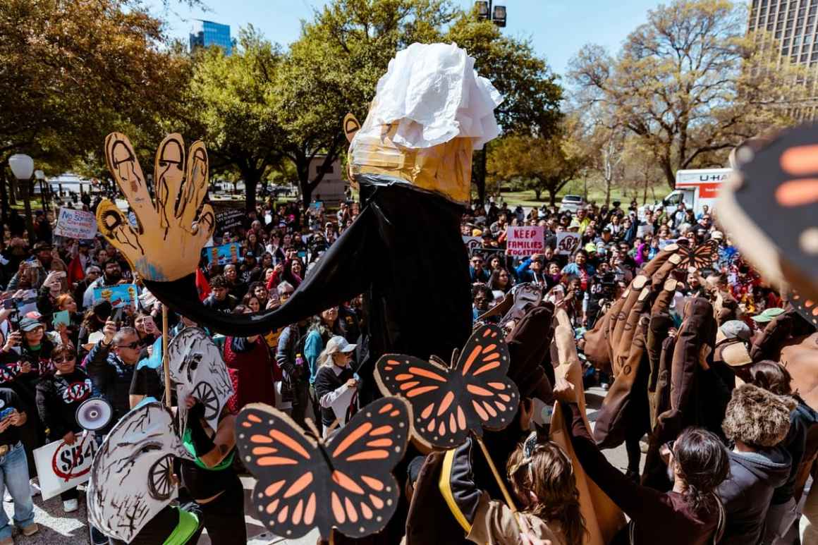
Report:
[[[56,371],[43,376],[37,385],[37,412],[46,426],[48,442],[62,439],[73,445],[82,439],[83,429],[77,423],[76,413],[80,403],[93,394],[93,384],[88,375],[77,367],[77,353],[72,345],[56,345],[51,353]],[[77,489],[60,494],[62,508],[66,513],[77,511]]]

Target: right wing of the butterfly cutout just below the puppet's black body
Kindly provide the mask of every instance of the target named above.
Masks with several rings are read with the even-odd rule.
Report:
[[[483,428],[505,428],[517,414],[519,390],[506,376],[509,360],[501,329],[487,325],[474,331],[452,372],[464,381],[469,396],[464,404],[479,422],[478,435]],[[470,428],[475,429],[471,422]]]

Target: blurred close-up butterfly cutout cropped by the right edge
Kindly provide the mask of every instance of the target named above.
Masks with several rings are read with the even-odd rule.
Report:
[[[818,300],[818,126],[745,142],[719,193],[719,221],[773,282]]]

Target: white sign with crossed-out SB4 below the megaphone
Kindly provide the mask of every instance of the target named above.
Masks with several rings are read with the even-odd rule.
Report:
[[[83,484],[91,476],[91,462],[97,453],[97,441],[86,431],[76,435],[74,444],[62,439],[34,449],[34,464],[40,478],[43,499]]]

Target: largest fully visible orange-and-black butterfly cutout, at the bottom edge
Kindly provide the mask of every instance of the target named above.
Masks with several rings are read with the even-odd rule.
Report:
[[[281,411],[249,404],[236,419],[236,444],[258,479],[258,518],[282,538],[312,528],[323,539],[333,528],[353,538],[380,531],[398,507],[392,470],[406,452],[410,421],[407,403],[382,398],[325,441]]]

